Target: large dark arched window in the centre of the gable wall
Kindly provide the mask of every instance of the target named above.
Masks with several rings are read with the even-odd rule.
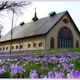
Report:
[[[72,48],[73,35],[69,28],[62,27],[58,33],[58,48]]]

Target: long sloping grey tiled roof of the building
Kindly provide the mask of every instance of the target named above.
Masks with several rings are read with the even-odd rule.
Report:
[[[66,12],[67,11],[57,13],[54,16],[48,16],[38,19],[35,22],[26,23],[23,26],[14,27],[12,38],[19,39],[46,34],[64,16]],[[11,31],[9,31],[6,35],[2,37],[0,42],[8,41],[10,39]]]

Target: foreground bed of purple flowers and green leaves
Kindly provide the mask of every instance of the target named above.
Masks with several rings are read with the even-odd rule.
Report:
[[[80,78],[80,54],[2,58],[0,78]]]

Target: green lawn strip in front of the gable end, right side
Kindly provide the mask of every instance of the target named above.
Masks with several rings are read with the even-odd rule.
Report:
[[[80,48],[71,49],[48,49],[46,51],[39,51],[37,54],[30,54],[31,56],[42,56],[50,54],[66,54],[66,53],[80,53]]]

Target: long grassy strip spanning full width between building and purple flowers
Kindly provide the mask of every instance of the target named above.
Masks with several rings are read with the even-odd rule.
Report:
[[[33,53],[25,53],[25,54],[19,54],[16,55],[0,55],[0,58],[19,58],[20,56],[43,56],[43,55],[50,55],[50,54],[68,54],[68,53],[80,53],[80,48],[70,48],[70,49],[48,49],[48,50],[40,50]]]

